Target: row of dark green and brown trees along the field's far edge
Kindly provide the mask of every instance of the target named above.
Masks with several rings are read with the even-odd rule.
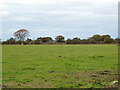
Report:
[[[73,39],[65,37],[62,35],[56,36],[55,40],[52,37],[38,37],[35,40],[29,38],[29,32],[26,29],[20,29],[14,33],[14,38],[10,38],[3,41],[2,44],[24,44],[24,45],[34,45],[34,44],[119,44],[120,38],[113,39],[110,35],[93,35],[88,39],[80,39],[75,37]]]

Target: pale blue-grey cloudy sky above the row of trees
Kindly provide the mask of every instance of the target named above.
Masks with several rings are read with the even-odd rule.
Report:
[[[2,8],[2,9],[1,9]],[[118,36],[118,0],[2,0],[2,38],[27,29],[30,38]],[[1,32],[0,32],[1,33]]]

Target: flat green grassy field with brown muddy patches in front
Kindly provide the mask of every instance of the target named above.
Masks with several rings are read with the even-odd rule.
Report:
[[[3,86],[104,88],[118,80],[115,45],[4,45]]]

